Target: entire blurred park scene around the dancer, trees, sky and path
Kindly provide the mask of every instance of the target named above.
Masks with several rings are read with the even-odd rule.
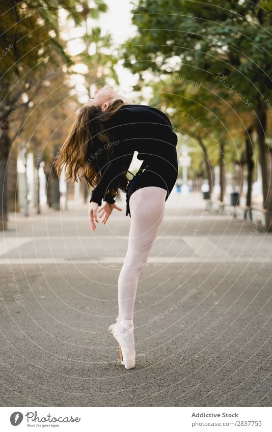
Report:
[[[271,12],[271,0],[0,3],[2,406],[271,407]],[[131,373],[107,331],[125,196],[91,232],[86,184],[52,165],[104,84],[178,135]]]

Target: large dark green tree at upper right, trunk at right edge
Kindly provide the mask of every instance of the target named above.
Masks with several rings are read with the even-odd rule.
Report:
[[[168,14],[166,10],[171,10]],[[272,231],[271,149],[267,114],[272,108],[271,1],[187,2],[140,0],[133,10],[137,36],[124,44],[124,66],[134,73],[177,73],[225,99],[239,98],[254,117],[262,166],[266,228]],[[271,111],[270,111],[271,112]]]

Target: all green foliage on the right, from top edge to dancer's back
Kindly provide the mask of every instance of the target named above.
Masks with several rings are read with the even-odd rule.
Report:
[[[212,165],[219,163],[210,131],[224,145],[224,162],[231,169],[244,151],[254,110],[260,104],[267,110],[263,100],[272,99],[271,9],[271,0],[134,4],[138,33],[123,44],[120,56],[125,67],[140,74],[135,89],[151,85],[151,104],[168,110],[177,130],[192,137],[198,168],[198,138]]]

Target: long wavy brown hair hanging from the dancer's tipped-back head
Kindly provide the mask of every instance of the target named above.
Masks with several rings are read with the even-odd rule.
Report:
[[[121,99],[117,99],[106,111],[103,111],[99,106],[80,108],[71,130],[53,162],[59,177],[64,168],[66,180],[70,180],[72,184],[78,181],[82,183],[84,178],[90,190],[91,187],[95,187],[99,183],[103,168],[111,154],[110,134],[107,132],[106,122],[114,116],[123,104]],[[102,152],[101,143],[104,143]],[[88,154],[96,156],[88,157]],[[124,190],[127,184],[125,172],[123,172],[122,180],[120,188]],[[117,185],[107,189],[106,192],[120,196]]]

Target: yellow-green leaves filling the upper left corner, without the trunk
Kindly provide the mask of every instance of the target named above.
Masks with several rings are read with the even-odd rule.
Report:
[[[96,37],[96,53],[89,55],[88,46],[85,52],[75,59],[67,54],[65,41],[60,37],[59,16],[60,10],[68,16],[69,22],[74,25],[83,25],[89,18],[98,18],[101,12],[107,10],[106,4],[99,0],[92,2],[89,7],[87,0],[8,0],[0,4],[0,121],[5,119],[17,107],[28,105],[32,96],[23,103],[21,97],[28,94],[29,88],[34,88],[37,82],[42,82],[47,72],[59,70],[63,64],[67,65],[65,71],[73,73],[76,62],[85,63],[92,70],[100,64],[111,68],[115,62],[110,55],[102,53],[103,47],[111,46],[111,37],[101,36],[100,28],[95,27],[92,33]],[[88,35],[89,36],[89,35]],[[65,72],[66,73],[66,72]],[[65,80],[63,74],[63,80]],[[37,91],[41,85],[37,86]],[[19,101],[19,105],[18,105]],[[13,114],[12,114],[13,116]]]

